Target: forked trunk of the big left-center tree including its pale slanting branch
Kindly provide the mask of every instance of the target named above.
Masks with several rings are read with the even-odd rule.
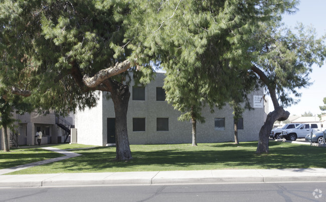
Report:
[[[71,75],[82,91],[100,90],[111,93],[115,112],[115,159],[132,159],[127,131],[127,110],[130,98],[129,87],[110,79],[110,77],[120,74],[130,68],[130,62],[126,60],[117,63],[114,67],[99,71],[91,78],[88,75],[82,74],[76,61],[72,62],[71,65]]]

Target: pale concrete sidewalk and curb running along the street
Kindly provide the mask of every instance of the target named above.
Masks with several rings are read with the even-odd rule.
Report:
[[[326,181],[325,168],[0,175],[0,187]]]

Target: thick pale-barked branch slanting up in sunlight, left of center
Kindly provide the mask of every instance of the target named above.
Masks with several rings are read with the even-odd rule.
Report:
[[[97,72],[93,77],[85,75],[83,77],[83,83],[89,88],[94,88],[101,84],[104,80],[112,76],[118,75],[122,72],[125,72],[129,68],[130,62],[129,60],[125,60],[121,63],[116,63],[113,67],[109,67],[107,69]]]

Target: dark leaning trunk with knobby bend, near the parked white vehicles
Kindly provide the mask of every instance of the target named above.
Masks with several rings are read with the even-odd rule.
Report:
[[[267,115],[265,124],[260,128],[259,139],[256,153],[268,153],[269,133],[273,128],[275,121],[284,121],[290,115],[290,112],[285,111],[283,107],[277,107],[274,111]]]

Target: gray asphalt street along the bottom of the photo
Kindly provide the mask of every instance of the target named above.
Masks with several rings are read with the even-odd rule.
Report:
[[[2,188],[0,201],[325,201],[326,182]]]

